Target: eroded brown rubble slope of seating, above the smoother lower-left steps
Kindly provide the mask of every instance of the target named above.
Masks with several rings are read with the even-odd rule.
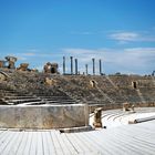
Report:
[[[154,103],[155,78],[141,75],[49,75],[13,72],[8,85],[20,92],[40,95],[69,95],[90,105]],[[45,79],[52,80],[46,84]],[[92,81],[95,83],[92,86]],[[133,83],[136,83],[134,87]]]

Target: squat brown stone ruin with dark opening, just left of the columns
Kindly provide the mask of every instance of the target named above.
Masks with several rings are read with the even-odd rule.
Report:
[[[44,65],[44,73],[52,73],[52,74],[58,74],[58,63],[50,63],[48,62],[45,65]]]

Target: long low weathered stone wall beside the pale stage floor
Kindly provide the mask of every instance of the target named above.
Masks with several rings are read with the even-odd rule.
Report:
[[[89,125],[89,107],[70,105],[0,106],[1,128],[50,130]]]

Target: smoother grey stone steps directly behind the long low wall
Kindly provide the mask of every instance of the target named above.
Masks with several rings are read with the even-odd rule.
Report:
[[[73,99],[61,91],[54,94],[39,91],[24,92],[12,90],[7,84],[0,83],[0,104],[1,105],[42,105],[42,104],[76,104]]]

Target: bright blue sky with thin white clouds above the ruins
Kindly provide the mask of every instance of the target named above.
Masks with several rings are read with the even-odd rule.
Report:
[[[18,56],[42,70],[62,56],[92,73],[151,74],[155,70],[155,0],[0,0],[0,59]]]

